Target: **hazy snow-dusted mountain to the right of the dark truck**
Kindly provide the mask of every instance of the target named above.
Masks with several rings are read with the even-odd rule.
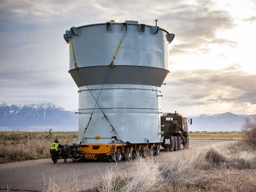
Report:
[[[188,125],[189,131],[215,131],[230,132],[241,131],[242,125],[246,118],[252,119],[256,115],[236,115],[232,113],[221,114],[202,114],[198,116],[190,116],[193,124]]]

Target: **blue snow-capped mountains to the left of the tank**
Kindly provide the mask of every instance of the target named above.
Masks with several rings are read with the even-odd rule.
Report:
[[[78,131],[78,115],[51,103],[0,104],[0,131]]]

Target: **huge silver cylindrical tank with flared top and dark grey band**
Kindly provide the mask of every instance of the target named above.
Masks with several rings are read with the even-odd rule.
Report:
[[[161,142],[160,87],[174,34],[126,21],[73,27],[64,38],[79,88],[79,140]]]

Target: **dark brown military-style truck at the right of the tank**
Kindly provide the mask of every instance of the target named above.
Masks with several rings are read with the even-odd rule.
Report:
[[[161,132],[163,132],[163,147],[167,151],[177,151],[188,148],[188,123],[192,124],[191,118],[186,118],[179,113],[163,113],[161,116]]]

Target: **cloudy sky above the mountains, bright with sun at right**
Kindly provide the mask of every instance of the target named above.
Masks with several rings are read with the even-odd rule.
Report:
[[[77,110],[63,34],[116,19],[175,34],[163,112],[256,113],[256,0],[0,0],[0,103]]]

